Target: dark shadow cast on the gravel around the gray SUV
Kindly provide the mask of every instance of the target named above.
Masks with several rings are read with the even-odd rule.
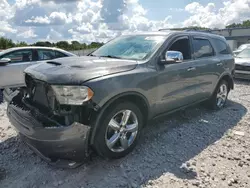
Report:
[[[230,100],[220,111],[188,108],[151,121],[138,146],[126,157],[105,160],[93,156],[77,169],[52,167],[13,137],[0,143],[0,167],[5,169],[0,181],[4,187],[20,187],[17,177],[21,187],[50,187],[59,180],[63,182],[60,187],[131,187],[165,173],[194,179],[195,170],[185,172],[180,166],[220,140],[246,113],[244,106]]]

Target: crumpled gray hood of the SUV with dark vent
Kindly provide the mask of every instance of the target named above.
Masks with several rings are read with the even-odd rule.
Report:
[[[80,85],[88,80],[133,70],[137,61],[91,56],[65,57],[25,69],[35,79],[50,84]]]

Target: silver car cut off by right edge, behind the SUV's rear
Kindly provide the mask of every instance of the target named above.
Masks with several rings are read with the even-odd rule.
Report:
[[[236,55],[234,77],[250,79],[250,48],[246,48]]]

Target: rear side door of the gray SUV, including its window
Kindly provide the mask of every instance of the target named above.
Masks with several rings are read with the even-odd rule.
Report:
[[[205,36],[192,37],[193,56],[197,69],[197,100],[208,98],[213,91],[214,83],[218,81],[220,59],[216,55],[210,38]]]

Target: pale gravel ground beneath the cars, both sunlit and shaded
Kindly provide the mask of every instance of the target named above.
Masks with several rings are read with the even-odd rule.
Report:
[[[119,160],[52,167],[18,138],[0,105],[0,187],[250,187],[250,84],[237,81],[225,109],[202,106],[151,122]]]

